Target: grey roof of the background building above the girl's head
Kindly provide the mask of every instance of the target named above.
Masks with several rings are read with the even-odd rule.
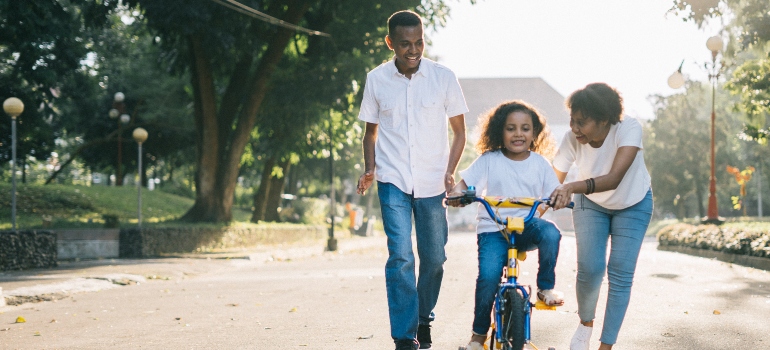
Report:
[[[557,140],[569,130],[569,112],[564,96],[542,78],[461,78],[460,86],[468,104],[465,124],[475,139],[478,118],[502,102],[522,100],[537,108],[546,118]]]

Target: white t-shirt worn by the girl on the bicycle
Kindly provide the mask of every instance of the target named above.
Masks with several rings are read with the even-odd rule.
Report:
[[[490,151],[478,157],[468,169],[460,171],[468,186],[476,187],[477,196],[548,197],[559,179],[545,157],[530,152],[525,160],[508,159],[502,151]],[[500,208],[501,218],[524,217],[529,208]],[[478,205],[477,233],[499,231],[502,227],[489,217],[482,204]]]

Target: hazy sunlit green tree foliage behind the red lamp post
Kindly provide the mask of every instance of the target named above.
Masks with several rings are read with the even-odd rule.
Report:
[[[656,118],[644,133],[645,163],[652,178],[656,217],[679,219],[705,216],[710,175],[711,87],[688,82],[686,92],[656,96]],[[742,117],[730,106],[736,99],[716,90],[716,178],[720,215],[732,212],[730,194],[739,191],[727,165],[745,167],[754,162],[748,145],[736,138]]]

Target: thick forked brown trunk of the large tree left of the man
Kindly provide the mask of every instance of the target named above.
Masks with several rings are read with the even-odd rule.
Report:
[[[294,2],[289,6],[284,21],[298,23],[308,7],[309,3],[306,1]],[[259,60],[254,76],[248,81],[242,78],[247,75],[245,72],[248,72],[248,69],[238,69],[231,74],[230,85],[222,97],[219,114],[216,111],[217,93],[206,48],[199,37],[190,38],[190,51],[195,62],[192,85],[198,146],[197,186],[195,204],[183,219],[206,222],[227,222],[232,219],[233,197],[241,156],[251,137],[259,107],[265,98],[267,82],[281,61],[284,49],[293,35],[294,32],[289,29],[276,30]],[[250,59],[248,56],[240,57],[237,67],[249,68],[245,62],[250,62]],[[249,95],[243,96],[243,91],[248,91]],[[240,96],[243,98],[239,98]],[[243,101],[243,104],[239,101]]]

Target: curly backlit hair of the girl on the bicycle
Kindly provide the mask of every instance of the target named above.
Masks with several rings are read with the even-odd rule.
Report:
[[[520,100],[503,102],[494,110],[481,118],[481,137],[476,143],[476,151],[483,154],[502,149],[503,132],[508,115],[513,112],[524,112],[532,117],[532,129],[535,135],[529,150],[551,159],[556,151],[556,142],[551,137],[551,130],[546,124],[545,117],[538,110]]]

